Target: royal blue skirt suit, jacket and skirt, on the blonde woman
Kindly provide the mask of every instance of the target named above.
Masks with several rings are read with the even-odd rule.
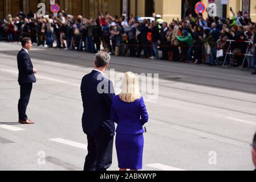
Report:
[[[143,97],[132,103],[119,96],[112,99],[111,119],[117,123],[116,152],[119,168],[139,170],[143,168],[143,125],[148,113]]]

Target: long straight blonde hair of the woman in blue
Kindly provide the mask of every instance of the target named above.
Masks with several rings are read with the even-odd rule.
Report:
[[[124,74],[122,92],[119,98],[124,102],[134,102],[140,98],[139,84],[136,75],[132,72]]]

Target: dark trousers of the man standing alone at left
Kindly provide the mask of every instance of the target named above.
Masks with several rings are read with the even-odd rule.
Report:
[[[21,86],[21,98],[19,98],[18,103],[18,111],[19,111],[19,120],[26,121],[27,115],[27,105],[29,104],[30,94],[32,90],[32,83],[31,84],[24,84],[19,83]]]

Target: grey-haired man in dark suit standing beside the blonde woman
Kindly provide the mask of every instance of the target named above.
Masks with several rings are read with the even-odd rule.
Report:
[[[95,69],[83,77],[81,84],[82,125],[88,141],[84,171],[106,171],[112,164],[115,124],[109,118],[115,93],[112,82],[104,77],[109,60],[108,53],[96,53]]]

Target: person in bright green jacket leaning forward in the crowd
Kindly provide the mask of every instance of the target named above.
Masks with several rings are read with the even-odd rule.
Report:
[[[192,35],[186,30],[182,31],[182,35],[183,36],[176,36],[176,39],[180,42],[185,42],[188,44],[188,46],[189,46],[188,60],[186,61],[186,63],[193,63],[192,55],[193,55],[194,40],[192,38]]]

